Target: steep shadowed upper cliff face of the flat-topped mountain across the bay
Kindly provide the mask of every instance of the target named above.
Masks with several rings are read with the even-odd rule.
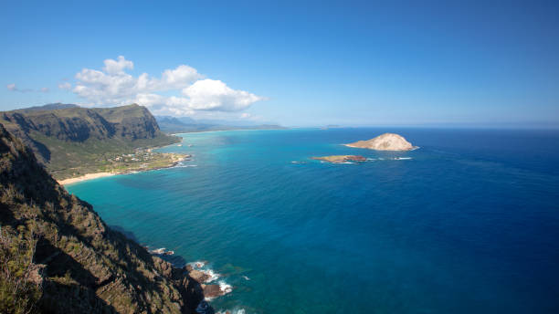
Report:
[[[54,108],[38,107],[24,110],[5,111],[0,122],[5,128],[22,139],[38,153],[40,162],[49,162],[50,146],[60,144],[56,141],[88,143],[90,140],[111,141],[134,146],[134,141],[153,141],[173,143],[174,137],[159,130],[157,121],[149,110],[132,104],[115,108]],[[54,141],[54,143],[53,143]]]

